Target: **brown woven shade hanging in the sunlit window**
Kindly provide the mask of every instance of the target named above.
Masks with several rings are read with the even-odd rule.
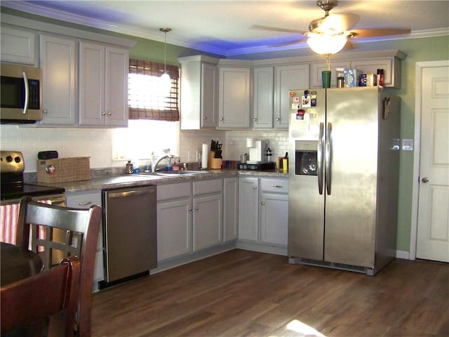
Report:
[[[128,108],[129,119],[179,121],[179,68],[166,65],[170,75],[169,89],[163,88],[163,64],[145,60],[129,60]]]

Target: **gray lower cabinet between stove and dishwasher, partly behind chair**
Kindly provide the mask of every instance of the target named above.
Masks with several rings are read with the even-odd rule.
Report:
[[[76,209],[88,209],[92,205],[102,206],[101,190],[89,190],[83,192],[66,192],[67,207]],[[97,252],[95,253],[95,265],[93,269],[93,288],[98,289],[98,282],[105,278],[103,267],[103,234],[102,226],[98,233]]]

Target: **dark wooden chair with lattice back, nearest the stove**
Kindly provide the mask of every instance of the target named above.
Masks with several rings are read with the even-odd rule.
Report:
[[[76,333],[81,337],[91,336],[91,306],[95,251],[102,211],[100,206],[89,209],[42,204],[25,196],[20,199],[16,244],[32,251],[39,251],[46,270],[50,269],[53,252],[60,251],[62,257],[78,256],[81,260],[79,300],[76,312]],[[45,226],[45,237],[39,237],[37,225]],[[59,235],[62,237],[58,239]],[[31,241],[30,241],[31,240]]]

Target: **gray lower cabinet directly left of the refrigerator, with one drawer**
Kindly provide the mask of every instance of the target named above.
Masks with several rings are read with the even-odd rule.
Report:
[[[288,179],[239,178],[241,248],[287,247]],[[242,246],[243,245],[243,246]],[[263,249],[262,249],[263,250]]]

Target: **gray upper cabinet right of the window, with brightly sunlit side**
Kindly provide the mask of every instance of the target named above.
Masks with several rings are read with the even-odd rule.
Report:
[[[179,58],[178,61],[181,64],[181,129],[216,128],[218,60],[197,55]]]

